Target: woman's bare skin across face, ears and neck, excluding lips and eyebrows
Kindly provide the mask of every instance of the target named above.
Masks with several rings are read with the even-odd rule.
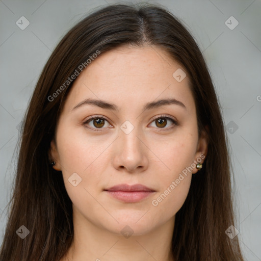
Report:
[[[183,175],[157,206],[152,200],[207,153],[206,134],[197,134],[188,76],[181,82],[172,76],[178,68],[182,67],[158,47],[124,46],[100,54],[75,80],[50,144],[54,168],[62,171],[73,205],[74,241],[62,261],[173,260],[175,214],[197,168]],[[93,105],[72,110],[87,98],[106,100],[119,110]],[[186,109],[171,104],[142,110],[147,102],[164,98],[175,98]],[[153,117],[161,115],[179,125],[171,120],[157,125]],[[94,120],[84,124],[89,116],[106,120],[103,125]],[[134,126],[129,134],[120,128],[126,120]],[[82,178],[76,187],[68,181],[75,172]],[[125,203],[104,191],[118,184],[142,184],[155,192]],[[133,230],[129,238],[121,234],[126,225]]]

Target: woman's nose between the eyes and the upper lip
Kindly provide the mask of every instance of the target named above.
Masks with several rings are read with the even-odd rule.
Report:
[[[114,144],[113,166],[119,171],[142,172],[148,168],[148,147],[143,136],[135,127],[131,133],[119,129],[119,137]]]

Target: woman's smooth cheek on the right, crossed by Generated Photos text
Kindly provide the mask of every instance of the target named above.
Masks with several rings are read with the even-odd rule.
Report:
[[[187,198],[195,167],[196,139],[196,135],[184,132],[165,142],[164,148],[158,150],[165,167],[158,173],[160,189],[151,204],[156,208],[156,215],[162,215],[164,219],[174,216]]]

